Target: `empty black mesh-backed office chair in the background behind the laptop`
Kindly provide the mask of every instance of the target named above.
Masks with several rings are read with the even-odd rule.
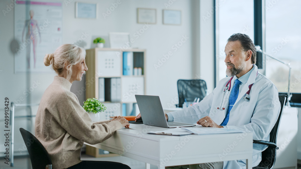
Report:
[[[176,107],[183,107],[185,99],[188,102],[193,102],[195,98],[200,98],[200,101],[206,96],[207,86],[204,80],[178,80],[178,95],[179,104]]]

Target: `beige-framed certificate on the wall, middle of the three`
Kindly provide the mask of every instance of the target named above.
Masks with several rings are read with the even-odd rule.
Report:
[[[150,8],[137,8],[137,23],[157,23],[157,10]]]

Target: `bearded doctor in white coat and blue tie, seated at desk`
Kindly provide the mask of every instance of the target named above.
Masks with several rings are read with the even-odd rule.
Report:
[[[252,132],[253,140],[269,141],[269,133],[280,112],[276,86],[258,72],[255,65],[256,49],[249,36],[240,33],[231,35],[225,46],[225,54],[228,77],[219,81],[213,92],[200,103],[167,113],[166,120],[239,129]],[[259,164],[261,152],[266,148],[265,145],[253,144],[252,167]],[[246,160],[166,168],[240,169],[246,168]]]

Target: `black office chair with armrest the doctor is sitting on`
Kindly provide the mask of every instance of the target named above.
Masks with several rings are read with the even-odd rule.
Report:
[[[261,162],[256,167],[253,167],[253,169],[270,169],[270,168],[273,168],[273,166],[276,162],[276,149],[279,149],[276,145],[276,140],[277,140],[278,128],[279,128],[279,123],[281,121],[282,112],[283,112],[285,103],[287,101],[287,95],[279,95],[279,101],[281,103],[281,109],[280,109],[280,113],[279,113],[277,122],[274,125],[274,127],[272,128],[272,131],[270,133],[270,141],[253,140],[253,143],[268,145],[268,148],[262,152]]]

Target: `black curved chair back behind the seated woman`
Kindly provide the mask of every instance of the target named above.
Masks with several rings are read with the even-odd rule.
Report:
[[[52,162],[42,143],[29,131],[20,128],[33,169],[52,169]]]

